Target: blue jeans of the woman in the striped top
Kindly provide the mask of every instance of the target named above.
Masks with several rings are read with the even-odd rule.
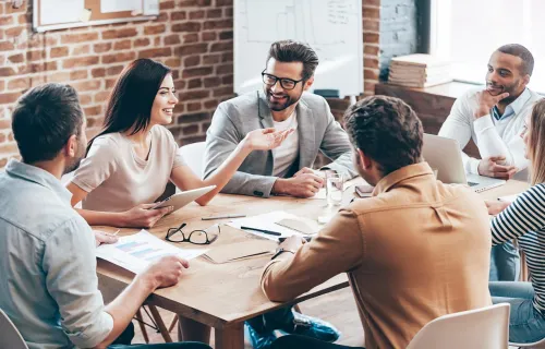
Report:
[[[545,337],[545,316],[537,311],[532,300],[534,288],[530,282],[489,282],[492,302],[511,304],[509,314],[509,341],[534,342]]]

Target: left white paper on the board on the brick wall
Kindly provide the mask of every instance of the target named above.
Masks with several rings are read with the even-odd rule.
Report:
[[[80,22],[85,10],[84,0],[41,0],[40,25]]]

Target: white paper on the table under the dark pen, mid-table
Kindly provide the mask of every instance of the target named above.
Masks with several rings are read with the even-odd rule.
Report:
[[[304,236],[304,234],[298,232],[296,230],[293,230],[293,229],[290,229],[287,227],[282,227],[282,226],[279,226],[276,224],[277,221],[280,221],[284,218],[298,219],[300,217],[292,215],[292,214],[289,214],[289,213],[283,212],[283,210],[275,210],[275,212],[270,212],[268,214],[257,215],[257,216],[253,216],[253,217],[233,219],[228,225],[233,227],[233,228],[237,228],[237,229],[241,229],[241,227],[250,227],[250,228],[257,228],[257,229],[276,231],[276,232],[280,232],[281,233],[280,237],[282,237],[282,238],[288,238],[288,237],[291,237],[294,234],[301,236],[301,237]],[[320,225],[318,225],[317,221],[316,221],[316,226],[322,227]],[[279,236],[272,236],[272,234],[268,234],[268,233],[259,232],[259,231],[254,231],[254,230],[244,230],[244,231],[247,231],[250,233],[256,234],[256,236],[265,238],[265,239],[274,240],[274,241],[278,241],[278,238],[280,238]]]

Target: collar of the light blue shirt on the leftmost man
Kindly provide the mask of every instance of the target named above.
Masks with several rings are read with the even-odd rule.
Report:
[[[43,170],[36,166],[21,163],[16,159],[11,159],[5,167],[5,172],[12,177],[17,177],[22,180],[34,182],[55,192],[62,201],[70,204],[72,193],[62,185],[61,181],[53,174]]]

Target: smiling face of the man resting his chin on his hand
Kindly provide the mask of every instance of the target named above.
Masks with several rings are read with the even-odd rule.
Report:
[[[495,51],[488,61],[486,89],[493,96],[509,93],[509,97],[502,99],[502,103],[509,104],[517,99],[528,84],[521,74],[521,64],[520,57]]]

